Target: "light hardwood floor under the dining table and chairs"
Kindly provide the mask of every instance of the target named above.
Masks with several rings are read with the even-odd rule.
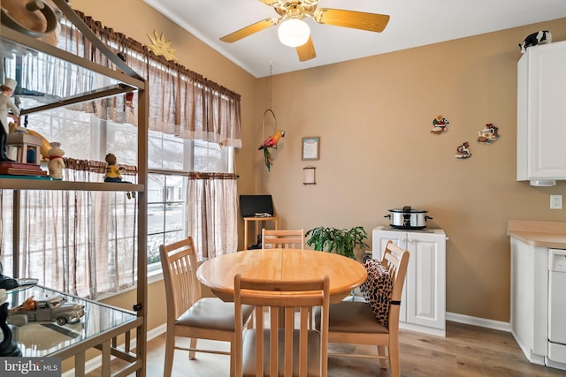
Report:
[[[426,336],[421,333],[401,330],[402,376],[566,376],[566,371],[536,366],[527,361],[510,333],[488,328],[478,328],[455,322],[447,322],[447,337]],[[199,341],[199,345],[210,345],[228,350],[227,343]],[[331,344],[330,351],[368,353],[370,347],[351,347]],[[148,344],[148,377],[163,375],[164,335]],[[187,353],[175,351],[173,377],[227,377],[228,357],[197,353],[195,360],[188,360]],[[89,377],[97,376],[96,372]],[[379,368],[377,359],[329,358],[328,375],[389,376],[388,369]]]

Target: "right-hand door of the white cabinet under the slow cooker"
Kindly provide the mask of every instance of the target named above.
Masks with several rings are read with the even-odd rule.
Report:
[[[409,232],[407,322],[446,327],[446,240],[443,235]]]

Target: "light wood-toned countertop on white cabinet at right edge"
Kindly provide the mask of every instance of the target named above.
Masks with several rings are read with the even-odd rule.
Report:
[[[507,234],[527,245],[566,249],[566,222],[509,220]]]

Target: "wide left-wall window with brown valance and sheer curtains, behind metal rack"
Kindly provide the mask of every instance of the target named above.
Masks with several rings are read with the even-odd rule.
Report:
[[[152,88],[150,177],[146,187],[152,217],[148,219],[149,253],[155,254],[155,245],[186,237],[187,233],[195,238],[200,258],[236,251],[235,177],[222,172],[229,172],[233,166],[233,147],[241,147],[240,95],[179,64],[147,54],[141,43],[87,16],[78,16],[104,43],[120,49],[126,63],[148,78]],[[116,69],[73,27],[63,23],[60,35],[59,48],[81,57],[87,54],[92,62]],[[18,79],[21,87],[65,97],[69,87],[89,85],[65,68],[50,71],[50,59],[37,61],[31,54],[28,58],[35,70],[25,75],[19,72],[19,77],[13,64],[6,64],[10,59],[4,59],[4,74]],[[65,157],[88,160],[88,169],[100,168],[106,153],[117,155],[119,164],[136,165],[137,99],[126,104],[124,97],[35,113],[27,117],[28,127],[47,140],[61,141]],[[134,175],[129,177],[134,181]],[[103,174],[67,166],[65,179],[100,182]],[[6,245],[12,241],[8,233],[16,228],[11,223],[11,194],[0,192],[1,256],[10,268],[13,255]],[[30,191],[22,195],[25,198],[20,210],[25,214],[21,217],[28,221],[19,231],[22,253],[18,275],[42,275],[40,281],[45,285],[89,298],[134,285],[135,198],[126,197],[124,192]],[[149,257],[155,264],[155,255]],[[8,268],[5,272],[16,275]]]

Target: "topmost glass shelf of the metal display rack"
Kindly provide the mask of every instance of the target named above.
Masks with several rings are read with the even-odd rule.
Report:
[[[22,115],[144,87],[144,82],[2,26],[4,75],[18,81]],[[63,83],[63,85],[62,85]]]

